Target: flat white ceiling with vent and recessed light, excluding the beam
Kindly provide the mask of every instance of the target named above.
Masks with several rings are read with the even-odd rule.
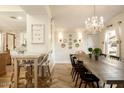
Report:
[[[21,20],[11,17],[22,17]],[[0,30],[10,32],[26,31],[26,15],[23,12],[0,12]]]

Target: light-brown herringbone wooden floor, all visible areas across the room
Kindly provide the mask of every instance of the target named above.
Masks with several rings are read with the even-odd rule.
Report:
[[[52,82],[47,83],[46,85],[41,84],[39,87],[48,87],[48,88],[74,88],[74,82],[70,74],[71,64],[55,64],[52,70]],[[7,66],[7,73],[0,77],[0,87],[7,88],[9,87],[10,77],[11,77],[12,68]],[[24,83],[22,81],[21,83]],[[39,82],[40,83],[40,82]],[[78,80],[77,87],[79,86],[80,80]],[[82,87],[84,84],[82,84]],[[22,86],[21,87],[25,87]],[[106,85],[107,87],[107,85]],[[109,85],[108,85],[109,87]]]

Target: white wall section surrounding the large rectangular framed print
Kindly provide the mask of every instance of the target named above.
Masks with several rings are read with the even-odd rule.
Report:
[[[45,24],[45,39],[44,43],[32,44],[31,41],[31,25],[32,24]],[[46,53],[49,50],[49,18],[47,15],[27,15],[27,51],[36,53]]]

